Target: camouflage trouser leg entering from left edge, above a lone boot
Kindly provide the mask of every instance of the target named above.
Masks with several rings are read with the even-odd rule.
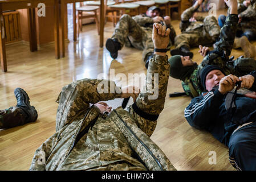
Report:
[[[26,123],[26,115],[22,109],[13,106],[9,109],[0,110],[0,129],[9,129]]]

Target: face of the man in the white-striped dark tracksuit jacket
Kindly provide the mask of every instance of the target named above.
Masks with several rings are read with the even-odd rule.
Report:
[[[205,79],[205,87],[206,90],[210,91],[214,86],[217,86],[220,84],[221,78],[225,77],[225,75],[218,69],[214,69],[210,71],[206,75]]]

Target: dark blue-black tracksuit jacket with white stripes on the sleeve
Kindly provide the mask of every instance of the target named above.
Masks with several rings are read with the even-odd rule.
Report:
[[[255,78],[250,90],[256,91],[256,71],[250,75]],[[256,100],[237,94],[234,100],[236,107],[230,119],[225,108],[225,97],[226,94],[221,94],[218,89],[203,93],[192,99],[184,114],[190,126],[209,131],[228,146],[230,135],[239,125],[256,121]]]

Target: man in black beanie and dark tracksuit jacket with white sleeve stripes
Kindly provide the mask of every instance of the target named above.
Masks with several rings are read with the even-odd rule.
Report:
[[[256,170],[255,77],[256,71],[225,76],[220,67],[208,65],[201,71],[201,85],[208,92],[193,98],[184,111],[190,126],[210,132],[229,147],[230,163],[239,171]]]

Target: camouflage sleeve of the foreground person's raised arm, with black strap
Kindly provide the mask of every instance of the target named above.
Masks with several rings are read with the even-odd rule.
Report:
[[[149,61],[144,88],[135,102],[139,109],[136,109],[134,105],[129,107],[129,113],[135,118],[137,126],[149,137],[152,135],[157,124],[157,118],[153,119],[153,117],[155,115],[158,117],[162,109],[164,109],[169,67],[168,56],[154,55]],[[148,118],[141,116],[138,110],[145,113]]]

